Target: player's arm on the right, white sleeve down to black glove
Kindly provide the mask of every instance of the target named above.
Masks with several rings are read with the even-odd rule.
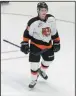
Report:
[[[56,29],[56,20],[54,17],[53,17],[53,21],[52,21],[51,38],[53,40],[53,50],[54,50],[54,52],[58,52],[60,50],[60,37],[59,37],[58,31]]]

